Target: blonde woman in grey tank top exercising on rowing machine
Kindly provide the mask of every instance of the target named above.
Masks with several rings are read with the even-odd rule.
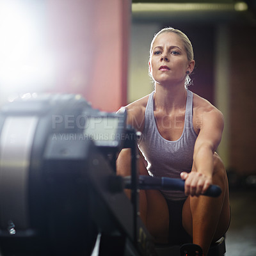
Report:
[[[159,31],[151,43],[148,65],[154,92],[125,107],[128,124],[142,133],[139,172],[181,177],[185,192],[140,191],[141,219],[156,243],[193,242],[207,255],[230,222],[227,175],[215,152],[223,115],[187,89],[195,61],[184,33],[173,28]],[[118,174],[130,175],[129,150],[120,152],[116,164]],[[221,187],[221,196],[200,196],[211,184]]]

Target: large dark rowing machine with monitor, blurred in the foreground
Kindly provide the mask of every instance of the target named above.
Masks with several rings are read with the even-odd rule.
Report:
[[[77,95],[1,109],[1,255],[89,256],[98,234],[99,255],[161,255],[138,214],[136,131],[125,124],[125,111],[103,113]],[[132,152],[131,201],[115,173],[124,147]],[[169,254],[180,256],[179,246]]]

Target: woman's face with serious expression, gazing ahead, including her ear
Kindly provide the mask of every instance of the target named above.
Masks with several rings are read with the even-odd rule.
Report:
[[[195,61],[188,61],[188,56],[179,35],[166,32],[157,36],[152,46],[149,68],[152,77],[159,84],[182,84],[186,72],[193,70]]]

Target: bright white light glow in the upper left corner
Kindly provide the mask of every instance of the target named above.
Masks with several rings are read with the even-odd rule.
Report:
[[[43,92],[54,78],[36,2],[0,0],[0,93],[5,95]]]

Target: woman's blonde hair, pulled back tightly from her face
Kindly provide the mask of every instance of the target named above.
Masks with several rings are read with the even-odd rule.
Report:
[[[188,61],[191,61],[191,60],[194,60],[194,52],[193,52],[193,46],[188,38],[188,36],[186,36],[182,31],[180,31],[179,29],[175,29],[175,28],[172,28],[172,27],[168,27],[168,28],[163,28],[161,29],[158,33],[156,33],[154,35],[154,38],[150,44],[150,59],[152,57],[152,47],[153,47],[153,44],[157,38],[157,36],[163,34],[163,33],[175,33],[176,35],[179,36],[180,40],[183,42],[184,44],[184,48],[185,48],[185,51],[186,51],[186,54],[187,54],[187,57],[188,57]],[[152,77],[151,73],[148,72],[150,74],[150,77]],[[188,86],[192,84],[192,81],[189,77],[189,75],[187,74],[186,76],[186,80],[185,80],[185,84],[184,86],[186,88],[188,88]]]

